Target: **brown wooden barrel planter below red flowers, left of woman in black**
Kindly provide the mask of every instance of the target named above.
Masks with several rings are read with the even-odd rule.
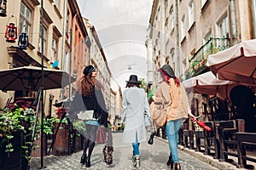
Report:
[[[55,143],[53,144],[53,155],[65,156],[68,155],[68,126],[61,123],[58,132],[58,123],[54,122]]]

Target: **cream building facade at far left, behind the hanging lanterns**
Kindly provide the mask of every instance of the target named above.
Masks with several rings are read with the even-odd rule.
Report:
[[[42,60],[44,67],[50,67],[53,63],[60,63],[55,65],[55,69],[62,69],[62,42],[63,42],[63,19],[65,18],[64,3],[66,1],[44,1],[41,4],[38,0],[18,0],[7,2],[7,16],[1,17],[0,28],[4,31],[9,26],[9,23],[14,23],[17,28],[17,35],[26,33],[28,40],[27,49],[19,47],[19,39],[15,42],[6,42],[4,34],[2,34],[1,53],[2,62],[0,64],[1,70],[10,69],[20,66],[34,65],[41,66]],[[43,10],[43,25],[41,26],[41,8]],[[43,59],[42,59],[43,58]],[[4,83],[4,82],[3,82]],[[6,104],[7,99],[16,97],[27,97],[28,88],[24,87],[22,93],[15,93],[13,91],[1,92],[0,105]],[[47,90],[45,95],[45,105],[49,105],[53,99],[60,99],[61,90]],[[32,97],[35,97],[37,92]],[[47,107],[45,113],[48,114]]]

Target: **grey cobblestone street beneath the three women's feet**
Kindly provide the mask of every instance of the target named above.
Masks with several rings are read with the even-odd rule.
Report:
[[[44,156],[44,169],[136,169],[131,164],[132,147],[122,143],[122,133],[113,133],[113,165],[107,167],[103,162],[102,145],[98,144],[93,151],[91,157],[91,167],[81,166],[80,156],[82,151],[74,153],[72,156]],[[154,144],[150,145],[142,143],[141,150],[141,167],[139,169],[170,169],[166,166],[166,161],[169,155],[169,148],[166,141],[154,139]],[[200,161],[183,150],[178,150],[182,169],[218,169],[212,167],[204,161]],[[32,158],[31,169],[35,170],[40,167],[40,158]]]

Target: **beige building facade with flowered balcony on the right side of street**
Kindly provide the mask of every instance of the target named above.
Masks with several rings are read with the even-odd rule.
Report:
[[[154,0],[147,40],[154,87],[164,64],[172,65],[181,80],[209,71],[209,54],[255,38],[255,21],[255,0]],[[207,97],[195,98],[203,112]]]

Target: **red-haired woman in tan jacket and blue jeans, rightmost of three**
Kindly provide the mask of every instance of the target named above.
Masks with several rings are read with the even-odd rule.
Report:
[[[184,119],[188,118],[189,102],[182,82],[175,77],[170,65],[160,68],[163,82],[160,83],[155,95],[152,97],[155,105],[165,105],[166,135],[169,142],[170,156],[167,164],[174,169],[181,169],[177,157],[177,133]]]

